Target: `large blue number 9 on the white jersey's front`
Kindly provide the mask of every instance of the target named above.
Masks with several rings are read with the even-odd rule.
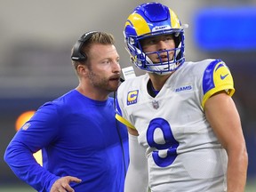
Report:
[[[154,132],[156,129],[161,129],[164,135],[164,144],[158,144],[154,140]],[[153,151],[153,159],[155,163],[160,167],[166,167],[173,163],[175,158],[177,157],[177,148],[179,146],[179,142],[174,139],[172,135],[172,129],[170,124],[163,118],[155,118],[150,121],[148,125],[147,131],[147,140],[148,145],[151,148],[156,148],[158,150],[166,149],[166,156],[159,156],[159,151]]]

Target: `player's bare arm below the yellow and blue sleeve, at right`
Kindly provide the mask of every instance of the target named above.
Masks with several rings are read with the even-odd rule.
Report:
[[[244,191],[248,156],[236,105],[225,91],[205,102],[205,116],[228,153],[228,191]]]

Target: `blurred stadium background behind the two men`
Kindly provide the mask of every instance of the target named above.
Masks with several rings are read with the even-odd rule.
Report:
[[[76,39],[88,30],[103,30],[112,33],[116,37],[116,48],[121,56],[120,63],[123,68],[128,67],[130,62],[128,53],[124,49],[124,21],[137,4],[145,2],[147,1],[0,0],[1,192],[35,191],[18,180],[4,163],[4,149],[16,132],[15,122],[20,114],[25,111],[36,110],[45,101],[52,100],[76,87],[77,79],[70,61],[70,50]],[[187,60],[220,58],[226,61],[231,69],[236,86],[234,99],[241,115],[249,153],[246,192],[255,191],[256,186],[253,186],[253,183],[256,183],[256,153],[254,149],[256,148],[256,41],[255,30],[253,31],[253,29],[256,28],[253,25],[255,26],[256,16],[253,12],[256,12],[256,1],[156,0],[156,2],[172,7],[182,23],[188,23],[189,28],[186,29],[185,34]],[[243,36],[240,36],[241,33],[239,32],[233,39],[217,40],[219,43],[224,42],[224,46],[219,44],[218,47],[217,44],[217,48],[215,46],[212,49],[212,47],[207,46],[211,42],[207,39],[200,40],[200,37],[205,33],[204,29],[206,31],[207,28],[203,28],[203,33],[200,34],[201,30],[200,26],[196,26],[198,24],[196,24],[196,18],[197,20],[200,17],[202,19],[205,12],[207,15],[207,12],[220,8],[224,9],[224,11],[220,11],[224,13],[224,17],[225,12],[236,12],[237,9],[240,10],[241,8],[245,10],[242,14],[248,16],[246,11],[248,9],[249,12],[252,12],[252,16],[250,16],[251,20],[243,21],[236,20],[241,18],[241,12],[237,16],[235,14],[235,17],[234,14],[233,17],[228,17],[227,13],[228,22],[225,23],[224,27],[213,28],[212,36],[220,34],[227,40],[228,36],[235,33],[234,28],[239,29],[242,24],[244,32],[241,33]],[[219,13],[210,13],[210,15],[214,16],[214,14]],[[209,20],[206,20],[206,23],[212,22],[211,18]],[[211,23],[211,26],[214,26],[214,22]],[[208,29],[212,30],[211,28]],[[200,34],[199,38],[196,36],[198,33]],[[240,47],[236,46],[236,42],[232,44],[232,41],[236,40],[239,43],[239,38],[241,38],[241,43],[244,41],[244,36],[247,36],[247,40],[252,37],[252,41]],[[212,41],[216,42],[216,39],[212,39]],[[228,46],[225,47],[225,44]],[[136,68],[135,72],[140,75],[140,71]]]

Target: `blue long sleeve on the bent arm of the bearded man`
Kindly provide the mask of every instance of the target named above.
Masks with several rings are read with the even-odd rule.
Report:
[[[58,134],[58,119],[56,108],[51,103],[45,104],[20,128],[4,153],[12,172],[38,191],[50,191],[60,178],[37,164],[33,156]]]

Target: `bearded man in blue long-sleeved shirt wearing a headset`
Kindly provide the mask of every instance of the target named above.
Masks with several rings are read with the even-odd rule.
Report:
[[[128,134],[115,119],[119,55],[114,37],[85,33],[72,49],[76,89],[45,103],[16,133],[4,160],[37,191],[123,192]],[[43,151],[43,167],[32,156]]]

